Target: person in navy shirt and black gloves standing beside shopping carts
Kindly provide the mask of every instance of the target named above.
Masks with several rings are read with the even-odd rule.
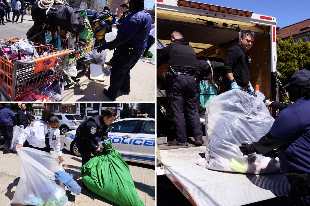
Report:
[[[130,0],[127,3],[131,14],[120,24],[116,39],[95,48],[99,53],[107,48],[116,48],[112,57],[110,86],[103,90],[112,101],[116,100],[118,90],[130,92],[130,70],[146,48],[152,24],[151,16],[144,10],[144,0]]]

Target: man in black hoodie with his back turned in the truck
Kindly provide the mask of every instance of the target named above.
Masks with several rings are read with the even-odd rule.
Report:
[[[171,44],[162,50],[157,57],[157,69],[168,59],[168,67],[171,66],[177,76],[168,82],[167,98],[173,113],[173,122],[176,128],[177,139],[167,141],[170,146],[188,145],[186,138],[185,119],[183,105],[188,111],[188,116],[193,129],[193,137],[196,145],[202,145],[202,128],[197,109],[197,89],[193,68],[196,62],[196,53],[183,39],[179,31],[174,31],[170,36]]]

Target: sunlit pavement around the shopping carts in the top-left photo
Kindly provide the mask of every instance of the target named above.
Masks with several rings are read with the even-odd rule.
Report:
[[[20,19],[19,19],[20,20]],[[0,39],[24,38],[27,39],[26,33],[33,26],[31,15],[24,16],[24,23],[9,23],[4,20],[6,25],[0,25]],[[113,56],[113,50],[109,51],[106,61]],[[70,86],[64,90],[62,101],[111,101],[103,94],[103,89],[107,88],[110,83],[109,65],[104,65],[106,80],[104,82],[92,82],[82,87]],[[150,63],[150,58],[141,56],[138,63],[131,69],[131,92],[118,92],[116,101],[155,101],[155,65]],[[79,73],[79,83],[89,82],[89,71]]]

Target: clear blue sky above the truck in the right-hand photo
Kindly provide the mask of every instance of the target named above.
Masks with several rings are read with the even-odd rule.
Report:
[[[286,27],[310,18],[310,0],[194,0],[217,6],[252,11],[277,18],[277,27]]]

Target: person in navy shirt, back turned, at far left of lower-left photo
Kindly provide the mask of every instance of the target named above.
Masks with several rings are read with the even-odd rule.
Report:
[[[0,129],[4,137],[3,154],[12,153],[9,149],[13,139],[13,127],[17,124],[16,116],[10,104],[5,104],[0,111]]]

